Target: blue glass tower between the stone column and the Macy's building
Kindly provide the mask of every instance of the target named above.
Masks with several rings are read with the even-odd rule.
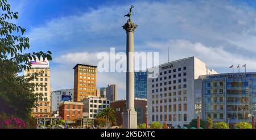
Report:
[[[134,73],[135,97],[147,99],[147,72]]]

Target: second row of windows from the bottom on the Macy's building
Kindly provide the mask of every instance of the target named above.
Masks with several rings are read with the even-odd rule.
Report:
[[[158,108],[159,107],[159,108]],[[168,107],[168,108],[167,108]],[[174,104],[173,105],[173,108],[172,108],[172,105],[156,105],[156,106],[152,106],[152,113],[154,112],[172,112],[172,109],[174,112],[176,111],[181,111],[181,104],[178,104],[178,109],[177,109],[177,105]],[[183,104],[183,111],[187,111],[187,104]]]

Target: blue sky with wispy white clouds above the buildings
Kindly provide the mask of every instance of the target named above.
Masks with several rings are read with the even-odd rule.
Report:
[[[159,52],[160,62],[196,56],[218,73],[246,63],[256,70],[255,1],[85,1],[9,0],[27,29],[29,51],[51,50],[52,90],[73,87],[76,63],[97,65],[97,53],[125,51],[122,25],[134,5],[135,50]],[[236,70],[235,70],[236,71]],[[98,73],[97,86],[117,83],[125,97],[124,73]]]

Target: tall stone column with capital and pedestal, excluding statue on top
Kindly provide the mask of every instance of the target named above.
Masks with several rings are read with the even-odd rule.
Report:
[[[123,26],[126,31],[126,111],[123,112],[123,128],[137,128],[137,112],[134,109],[134,29],[130,18]]]

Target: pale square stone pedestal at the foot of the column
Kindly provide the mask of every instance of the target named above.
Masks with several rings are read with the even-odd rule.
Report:
[[[123,112],[123,128],[137,129],[137,112],[136,111]]]

